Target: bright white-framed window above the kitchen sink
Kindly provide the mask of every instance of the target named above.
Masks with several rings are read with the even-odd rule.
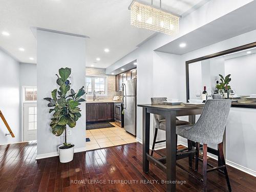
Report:
[[[93,95],[94,91],[96,95],[106,94],[106,77],[86,77],[86,93],[88,95]]]

